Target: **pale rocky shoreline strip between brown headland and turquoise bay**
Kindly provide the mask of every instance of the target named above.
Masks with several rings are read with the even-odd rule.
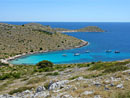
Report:
[[[89,45],[89,42],[87,42],[85,40],[81,40],[81,41],[82,41],[82,43],[80,45],[72,47],[72,48],[67,48],[67,49],[80,48],[80,47]],[[59,49],[59,50],[66,50],[66,49]],[[4,64],[10,64],[8,61],[11,61],[11,60],[14,60],[14,59],[26,56],[26,55],[37,54],[37,53],[47,53],[47,52],[52,52],[52,51],[58,51],[58,50],[46,50],[46,51],[35,51],[35,52],[29,52],[29,53],[22,53],[22,54],[15,55],[13,57],[9,57],[6,59],[0,59],[0,61]]]

